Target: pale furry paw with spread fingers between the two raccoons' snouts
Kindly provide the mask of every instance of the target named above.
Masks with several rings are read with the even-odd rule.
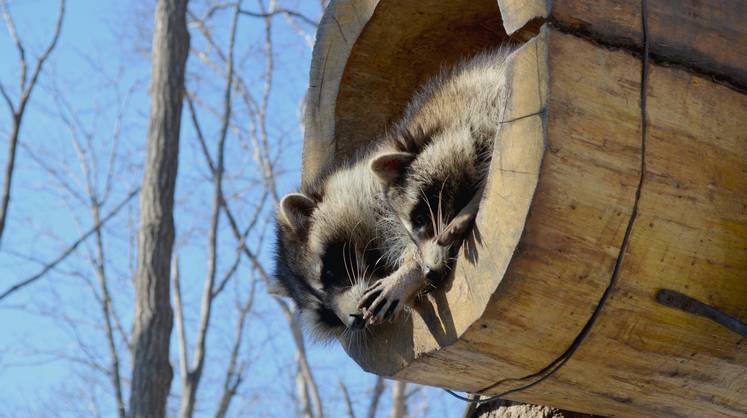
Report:
[[[425,276],[415,260],[406,261],[397,271],[369,286],[358,309],[371,324],[395,319],[426,285]]]

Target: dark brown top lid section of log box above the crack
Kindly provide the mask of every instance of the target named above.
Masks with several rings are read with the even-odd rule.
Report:
[[[498,0],[506,30],[551,20],[597,42],[640,51],[641,0]],[[651,55],[747,90],[747,3],[742,0],[647,2]]]

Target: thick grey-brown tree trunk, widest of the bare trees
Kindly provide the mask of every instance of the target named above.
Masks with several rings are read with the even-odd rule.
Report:
[[[173,375],[169,364],[169,264],[189,50],[186,10],[186,0],[159,0],[156,6],[148,151],[140,194],[131,417],[163,417]]]

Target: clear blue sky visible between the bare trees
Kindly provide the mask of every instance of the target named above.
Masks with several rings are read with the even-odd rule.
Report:
[[[245,2],[256,10],[256,3]],[[302,0],[281,2],[282,6],[299,8],[318,18],[317,2]],[[204,2],[194,1],[194,10]],[[52,0],[16,0],[10,2],[19,32],[27,45],[27,55],[36,57],[48,42],[57,6]],[[226,42],[226,15],[216,17],[215,34]],[[152,25],[152,2],[69,0],[62,36],[41,81],[31,99],[21,133],[8,226],[0,248],[0,288],[37,272],[41,264],[56,257],[92,223],[82,202],[71,197],[64,185],[50,175],[55,168],[68,185],[78,185],[84,173],[71,146],[71,130],[63,122],[77,118],[78,134],[90,133],[90,154],[96,154],[99,169],[112,148],[112,132],[120,120],[120,140],[113,168],[111,197],[104,205],[108,213],[129,190],[138,186],[147,128],[150,64],[147,51]],[[221,23],[222,22],[222,23]],[[225,24],[225,25],[224,25]],[[194,28],[192,28],[194,29]],[[313,29],[306,27],[313,36]],[[242,18],[237,61],[239,71],[259,94],[264,61],[259,56],[260,20]],[[282,151],[279,168],[282,192],[291,191],[300,174],[301,129],[299,104],[304,95],[311,51],[303,39],[282,18],[274,21],[275,83],[269,103],[268,131],[277,151]],[[192,46],[206,48],[204,40],[193,35]],[[17,54],[3,25],[0,31],[0,80],[17,97]],[[32,58],[33,59],[33,58]],[[214,137],[218,125],[209,111],[219,103],[216,93],[223,81],[191,56],[188,64],[188,88],[204,98],[206,107],[200,117],[206,136]],[[4,103],[3,103],[4,105]],[[62,110],[61,110],[62,109]],[[241,122],[241,106],[235,118]],[[0,110],[0,163],[5,164],[5,144],[9,114]],[[235,202],[240,219],[246,219],[256,192],[249,189],[256,173],[251,150],[240,135],[229,138],[227,193],[241,193]],[[86,158],[90,158],[90,154]],[[89,161],[93,162],[92,159]],[[188,335],[194,337],[194,321],[199,314],[199,297],[206,272],[206,231],[210,210],[208,171],[195,140],[186,109],[182,124],[182,144],[177,182],[175,220],[176,251],[182,269],[183,298],[187,311]],[[76,183],[78,182],[78,183]],[[96,180],[103,190],[103,179]],[[246,190],[245,190],[246,189]],[[248,190],[248,191],[247,191]],[[243,217],[242,217],[243,215]],[[269,209],[265,216],[270,216]],[[132,316],[130,278],[135,263],[134,231],[137,227],[137,200],[133,200],[104,228],[115,310],[128,328]],[[219,270],[226,271],[233,261],[235,242],[225,222],[221,224]],[[266,232],[265,235],[271,235]],[[259,244],[259,236],[252,243]],[[271,237],[261,246],[266,260],[271,251]],[[101,313],[94,302],[94,291],[88,287],[93,271],[86,256],[93,251],[87,242],[74,256],[33,286],[0,303],[0,417],[4,416],[90,416],[99,409],[102,416],[113,416],[110,386],[106,378],[81,363],[81,359],[107,363],[101,336]],[[200,387],[196,416],[210,416],[214,411],[222,375],[221,367],[229,349],[235,320],[233,300],[247,293],[247,263],[242,263],[225,294],[216,305],[213,326],[208,339],[208,368]],[[176,364],[176,347],[172,338],[172,362]],[[90,352],[81,346],[91,347]],[[292,341],[287,326],[274,302],[260,286],[258,299],[246,329],[242,358],[250,367],[242,397],[232,406],[233,416],[295,416],[288,408],[294,391]],[[361,414],[368,401],[367,392],[374,377],[360,370],[337,344],[309,344],[311,363],[329,416],[341,416],[343,403],[338,382],[350,387]],[[126,356],[125,356],[126,357]],[[124,358],[123,373],[129,374],[129,359]],[[108,363],[107,363],[108,364]],[[125,383],[125,387],[127,384]],[[178,378],[172,391],[178,395]],[[268,391],[267,389],[270,388]],[[90,393],[95,396],[86,399]],[[388,412],[389,393],[383,398],[380,416]],[[418,398],[420,397],[420,398]],[[420,400],[419,400],[420,399]],[[75,400],[72,402],[71,400]],[[429,405],[428,416],[456,416],[463,405],[437,390],[423,391],[417,402]],[[91,406],[91,403],[96,403]],[[178,407],[177,398],[170,403]],[[55,415],[55,416],[57,416]]]

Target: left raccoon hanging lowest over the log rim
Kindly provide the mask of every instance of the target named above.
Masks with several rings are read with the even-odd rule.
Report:
[[[387,137],[374,149],[397,148]],[[375,153],[364,154],[286,195],[277,211],[280,293],[318,339],[362,338],[359,331],[396,317],[423,286],[417,247],[368,168]]]

